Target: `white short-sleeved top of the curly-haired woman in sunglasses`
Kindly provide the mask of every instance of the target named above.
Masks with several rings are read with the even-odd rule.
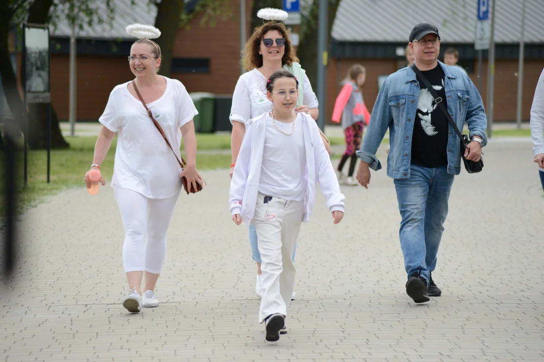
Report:
[[[232,94],[231,123],[236,120],[245,124],[249,119],[272,110],[272,102],[267,98],[266,84],[267,79],[257,68],[240,75]],[[319,103],[306,74],[302,89],[304,90],[302,104],[308,108],[317,108]]]

